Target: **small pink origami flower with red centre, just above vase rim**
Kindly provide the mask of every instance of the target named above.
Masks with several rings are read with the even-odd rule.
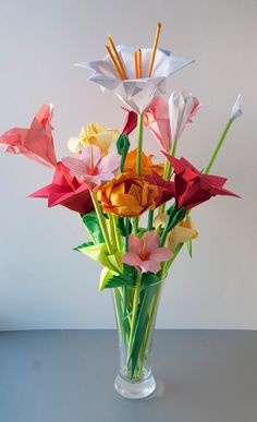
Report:
[[[123,263],[135,266],[139,273],[158,273],[160,263],[172,256],[171,251],[159,248],[159,243],[160,237],[156,230],[146,232],[140,239],[130,234],[128,252],[122,256]]]

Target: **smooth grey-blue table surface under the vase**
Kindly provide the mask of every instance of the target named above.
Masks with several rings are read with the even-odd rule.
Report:
[[[256,422],[257,331],[157,330],[158,388],[117,395],[117,333],[0,333],[1,422]]]

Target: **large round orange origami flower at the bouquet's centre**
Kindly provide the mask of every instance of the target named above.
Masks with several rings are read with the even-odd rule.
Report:
[[[118,174],[97,190],[102,210],[122,217],[137,217],[156,208],[159,196],[157,185],[134,172]]]

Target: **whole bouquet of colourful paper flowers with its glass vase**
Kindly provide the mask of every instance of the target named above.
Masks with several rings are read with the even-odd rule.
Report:
[[[199,110],[191,94],[173,92],[167,101],[166,80],[192,60],[158,48],[114,45],[109,37],[102,60],[79,63],[90,69],[102,89],[125,104],[121,133],[90,123],[69,140],[73,156],[57,161],[52,140],[52,106],[44,105],[28,129],[0,137],[2,150],[22,154],[50,167],[50,184],[30,197],[46,197],[78,213],[89,240],[75,248],[102,265],[99,290],[112,289],[120,345],[117,390],[143,398],[156,388],[150,350],[158,302],[168,272],[183,245],[192,254],[197,230],[191,209],[216,195],[237,196],[225,178],[209,174],[233,121],[241,116],[241,96],[204,169],[176,157],[178,142]],[[155,135],[163,160],[144,153],[144,128]],[[136,129],[137,141],[128,140]],[[111,152],[112,146],[117,152]],[[146,218],[142,218],[146,215]]]

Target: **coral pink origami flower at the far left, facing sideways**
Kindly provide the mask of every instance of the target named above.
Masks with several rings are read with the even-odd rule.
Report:
[[[22,154],[44,166],[54,168],[57,158],[52,140],[52,105],[40,107],[28,129],[14,128],[0,137],[1,150]]]

